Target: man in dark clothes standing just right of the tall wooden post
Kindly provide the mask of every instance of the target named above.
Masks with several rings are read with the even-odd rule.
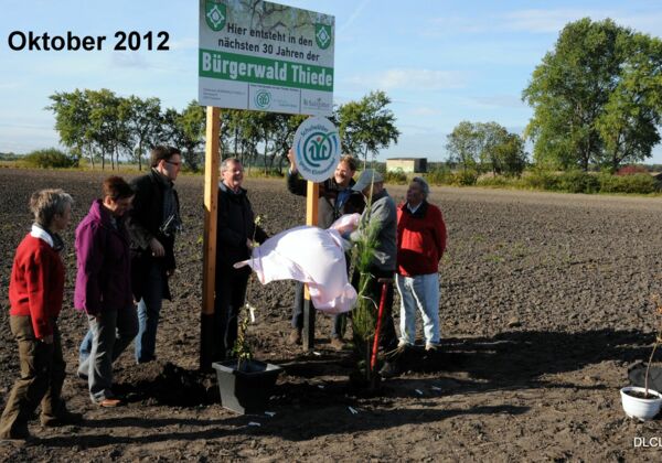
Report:
[[[218,232],[216,236],[216,298],[214,300],[215,362],[231,355],[237,338],[237,317],[246,301],[250,267],[233,266],[250,258],[255,241],[268,237],[256,224],[255,214],[244,182],[244,168],[238,159],[228,158],[221,163],[218,183]]]

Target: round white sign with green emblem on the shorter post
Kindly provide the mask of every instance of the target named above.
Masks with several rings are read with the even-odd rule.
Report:
[[[292,149],[303,179],[323,182],[340,162],[338,129],[324,117],[308,118],[297,129]]]

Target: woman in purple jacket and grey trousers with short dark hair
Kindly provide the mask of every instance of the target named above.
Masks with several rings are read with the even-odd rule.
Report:
[[[104,198],[92,203],[76,228],[78,272],[74,304],[87,314],[89,331],[81,345],[78,376],[100,407],[117,407],[113,362],[134,341],[138,317],[131,294],[129,235],[125,213],[134,191],[119,176],[104,182]]]

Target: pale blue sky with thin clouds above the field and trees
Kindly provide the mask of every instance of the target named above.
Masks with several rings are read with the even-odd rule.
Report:
[[[532,110],[522,89],[560,29],[584,17],[662,35],[659,0],[429,1],[288,0],[335,17],[337,104],[383,89],[402,132],[389,157],[446,158],[461,120],[495,121],[521,133]],[[108,88],[158,97],[182,109],[197,96],[195,0],[2,0],[0,151],[58,144],[49,95]],[[117,31],[167,31],[170,51],[113,51]],[[103,51],[11,51],[12,31],[106,35]],[[662,163],[662,150],[653,161]]]

